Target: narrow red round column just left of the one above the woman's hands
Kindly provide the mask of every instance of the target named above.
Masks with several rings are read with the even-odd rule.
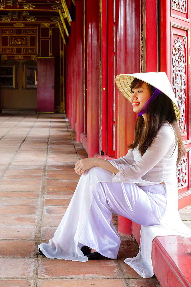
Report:
[[[76,1],[76,141],[84,132],[83,0]]]

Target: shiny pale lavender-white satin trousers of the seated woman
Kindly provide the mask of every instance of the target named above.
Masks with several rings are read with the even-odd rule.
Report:
[[[92,203],[78,245],[89,246],[116,259],[120,237],[112,224],[112,213],[141,225],[165,223],[166,186],[138,187],[135,183],[97,183],[92,188]]]

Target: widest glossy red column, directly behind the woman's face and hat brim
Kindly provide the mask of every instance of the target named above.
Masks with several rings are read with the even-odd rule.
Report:
[[[116,1],[116,75],[140,72],[140,3],[136,0]],[[132,105],[116,89],[116,148],[117,158],[127,153],[134,139],[137,115]],[[118,217],[118,231],[131,235],[132,221]]]

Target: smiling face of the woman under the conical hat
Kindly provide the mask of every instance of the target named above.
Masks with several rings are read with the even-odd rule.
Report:
[[[143,82],[140,87],[132,89],[131,103],[133,105],[133,111],[135,113],[140,113],[142,107],[148,101],[150,96],[151,93],[145,82]]]

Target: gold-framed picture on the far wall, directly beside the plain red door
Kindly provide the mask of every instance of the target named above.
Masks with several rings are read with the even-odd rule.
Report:
[[[37,66],[28,60],[23,63],[23,89],[37,88]]]

